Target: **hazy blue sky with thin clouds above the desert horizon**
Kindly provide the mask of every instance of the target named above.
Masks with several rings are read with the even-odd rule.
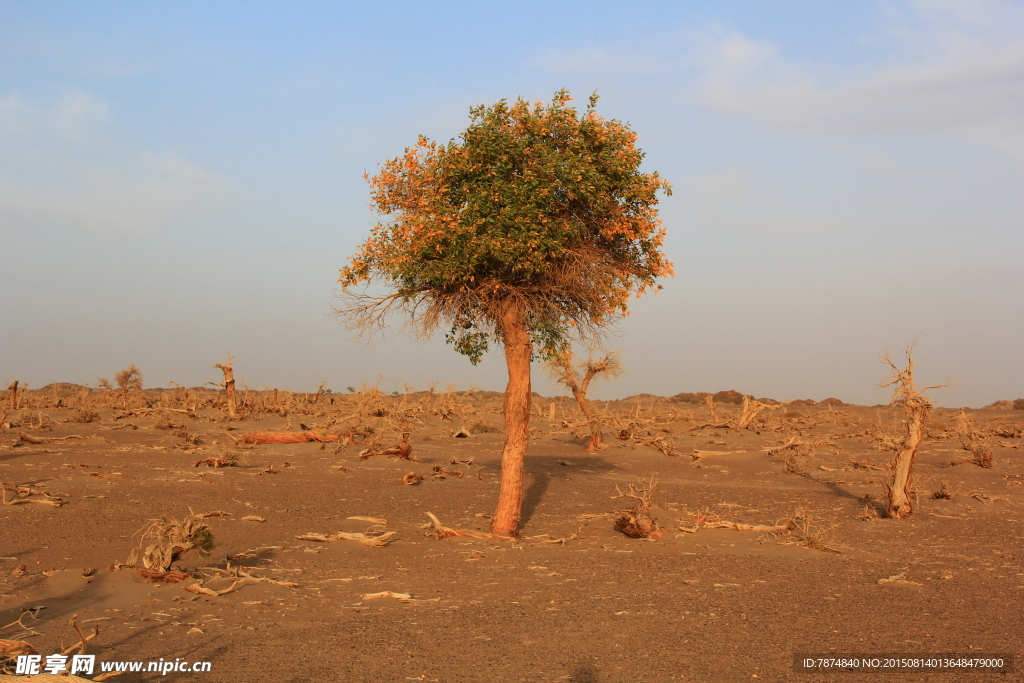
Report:
[[[0,380],[501,390],[353,341],[335,280],[365,172],[562,87],[675,185],[677,276],[595,394],[886,402],[920,336],[940,403],[1024,396],[1024,3],[982,0],[0,1]]]

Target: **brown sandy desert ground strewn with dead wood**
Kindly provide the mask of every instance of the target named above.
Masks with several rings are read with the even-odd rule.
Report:
[[[992,436],[994,466],[983,469],[949,431],[953,412],[937,411],[916,464],[919,508],[892,520],[874,514],[890,476],[874,435],[898,426],[893,409],[790,408],[736,430],[693,429],[703,407],[614,402],[608,415],[620,424],[633,416],[644,430],[626,440],[609,433],[612,447],[588,454],[568,403],[537,403],[516,543],[438,541],[425,527],[429,511],[446,526],[487,529],[502,434],[451,434],[500,424],[493,394],[464,396],[446,420],[421,401],[404,423],[416,462],[360,460],[361,445],[226,445],[251,430],[299,429],[307,420],[298,415],[228,422],[216,409],[103,409],[83,424],[66,422],[71,409],[10,414],[0,434],[7,500],[23,486],[23,497],[63,504],[0,508],[0,627],[22,617],[0,638],[51,654],[77,642],[77,614],[86,632],[98,627],[89,651],[100,661],[211,663],[209,673],[115,679],[125,683],[1024,680],[1024,663],[1013,673],[794,669],[798,653],[1020,657],[1021,438]],[[988,431],[1024,423],[1020,411],[971,417]],[[168,419],[171,429],[155,428]],[[638,445],[655,435],[678,455]],[[786,452],[766,453],[793,436],[825,443],[788,464]],[[237,467],[194,466],[228,452]],[[261,474],[270,465],[274,473]],[[464,476],[439,478],[438,466]],[[403,484],[411,471],[423,481]],[[669,530],[627,538],[613,525],[630,505],[616,487],[652,477],[654,514]],[[951,498],[931,498],[943,484]],[[189,512],[220,513],[204,519],[212,555],[175,564],[196,579],[112,570],[147,520]],[[791,531],[709,527],[794,519]],[[396,533],[380,548],[297,538],[339,530]],[[182,588],[202,580],[222,590],[240,570],[276,583],[247,581],[219,596]],[[366,597],[385,591],[411,597]]]

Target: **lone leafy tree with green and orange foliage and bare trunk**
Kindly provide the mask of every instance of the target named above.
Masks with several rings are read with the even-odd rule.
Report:
[[[382,328],[390,312],[427,336],[438,329],[479,362],[502,345],[508,366],[505,446],[490,530],[514,536],[522,508],[530,361],[593,339],[634,295],[672,274],[655,206],[670,194],[642,173],[627,124],[592,95],[582,114],[566,90],[550,104],[502,100],[470,110],[458,139],[419,137],[370,181],[382,216],[342,268],[336,312]],[[375,294],[359,285],[378,284]]]

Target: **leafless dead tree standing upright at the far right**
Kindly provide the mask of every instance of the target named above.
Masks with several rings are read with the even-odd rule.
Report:
[[[932,403],[925,397],[925,392],[949,386],[944,383],[918,389],[913,382],[913,346],[911,343],[906,348],[906,367],[903,370],[896,367],[888,352],[882,356],[893,374],[879,386],[895,387],[892,405],[902,408],[907,416],[906,435],[893,443],[893,479],[886,486],[889,498],[886,514],[894,519],[903,519],[913,514],[913,461],[918,457],[918,447],[925,438],[925,423],[932,410]]]

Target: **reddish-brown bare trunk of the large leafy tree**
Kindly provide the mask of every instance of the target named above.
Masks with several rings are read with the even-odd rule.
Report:
[[[490,531],[516,536],[522,516],[522,478],[529,441],[529,358],[532,346],[526,317],[520,306],[510,304],[501,319],[502,343],[509,383],[505,388],[505,449],[502,451],[502,482]]]

